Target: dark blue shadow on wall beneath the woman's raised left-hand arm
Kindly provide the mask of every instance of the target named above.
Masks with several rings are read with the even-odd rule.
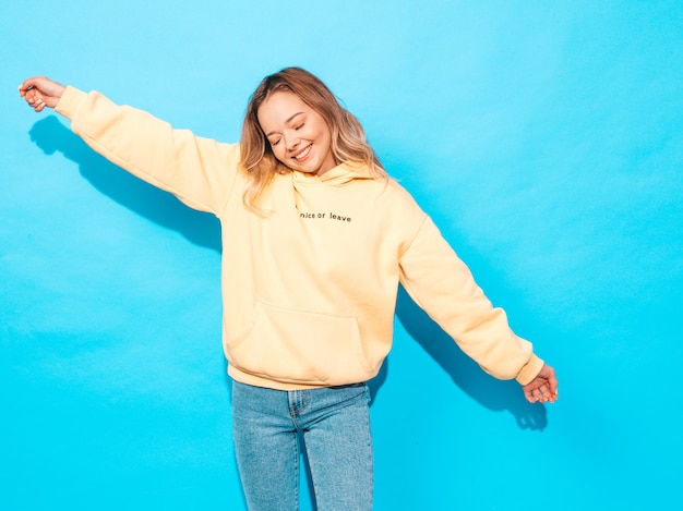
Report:
[[[55,115],[36,122],[28,134],[46,155],[59,151],[77,163],[81,174],[93,186],[120,205],[161,227],[180,232],[195,245],[220,252],[220,229],[215,217],[189,208],[171,194],[110,163]]]

